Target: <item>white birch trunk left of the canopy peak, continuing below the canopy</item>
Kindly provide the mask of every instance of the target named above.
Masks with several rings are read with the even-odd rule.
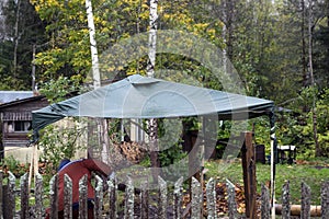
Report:
[[[101,87],[101,73],[99,68],[99,54],[95,41],[95,27],[93,22],[91,0],[86,0],[86,9],[90,37],[93,88],[98,89]],[[106,119],[100,118],[98,120],[98,135],[99,143],[102,146],[101,160],[109,164],[109,135]]]

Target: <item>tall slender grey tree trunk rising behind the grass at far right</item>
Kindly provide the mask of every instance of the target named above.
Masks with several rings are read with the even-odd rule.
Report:
[[[318,142],[318,135],[317,135],[317,108],[316,108],[316,84],[314,79],[314,71],[313,71],[313,0],[309,0],[309,14],[308,14],[308,65],[309,65],[309,76],[311,81],[311,92],[313,92],[313,106],[311,106],[311,114],[313,114],[313,137],[316,145],[316,157],[321,155],[321,150]]]

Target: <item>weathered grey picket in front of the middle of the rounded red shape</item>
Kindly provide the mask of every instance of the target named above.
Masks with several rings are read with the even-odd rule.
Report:
[[[79,181],[79,219],[88,219],[88,176],[83,175]]]

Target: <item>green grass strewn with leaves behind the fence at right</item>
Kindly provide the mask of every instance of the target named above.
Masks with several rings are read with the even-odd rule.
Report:
[[[325,168],[316,168],[325,166]],[[235,184],[243,184],[241,161],[232,161],[224,163],[220,160],[208,161],[205,163],[208,170],[206,178],[216,177],[219,182],[226,178]],[[271,166],[269,164],[257,164],[257,188],[260,193],[262,184],[266,184],[271,178]],[[300,184],[305,182],[311,189],[311,205],[319,205],[320,187],[325,181],[329,181],[329,162],[324,160],[320,162],[304,162],[303,164],[276,164],[275,176],[275,198],[276,203],[281,203],[281,194],[283,184],[290,181],[291,201],[294,205],[300,204]]]

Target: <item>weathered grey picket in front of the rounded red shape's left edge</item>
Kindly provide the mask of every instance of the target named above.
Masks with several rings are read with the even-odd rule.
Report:
[[[72,180],[64,174],[64,218],[72,218]]]

